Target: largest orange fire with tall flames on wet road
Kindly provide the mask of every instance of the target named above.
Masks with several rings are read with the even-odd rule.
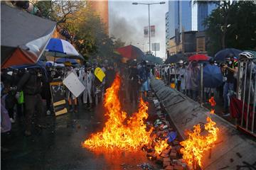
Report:
[[[117,74],[112,86],[105,94],[106,116],[109,117],[102,132],[92,134],[90,139],[83,142],[83,147],[90,149],[139,149],[151,142],[150,134],[153,128],[146,131],[144,120],[148,118],[147,103],[142,99],[139,103],[139,111],[129,118],[122,111],[118,92],[120,77]]]

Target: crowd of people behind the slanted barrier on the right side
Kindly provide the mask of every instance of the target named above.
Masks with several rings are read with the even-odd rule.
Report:
[[[233,54],[228,54],[225,57],[225,61],[217,62],[213,58],[208,61],[191,61],[183,62],[182,60],[173,64],[158,65],[155,67],[155,76],[163,79],[171,87],[176,88],[183,94],[186,94],[194,101],[207,102],[212,96],[219,96],[223,101],[223,116],[230,115],[230,96],[234,96],[237,91],[238,82],[238,62],[240,60],[250,60],[249,65],[252,64],[252,78],[255,77],[255,64],[252,61],[254,58],[250,52],[242,52],[240,56],[236,57]],[[203,68],[208,64],[218,67],[223,75],[223,83],[215,88],[209,88],[203,86],[201,88],[201,67]],[[247,78],[250,74],[250,70],[247,70]],[[245,78],[245,71],[243,72],[243,78]],[[247,81],[248,82],[248,81]],[[251,95],[254,91],[255,82],[252,82]],[[246,91],[248,91],[249,87]],[[203,98],[201,98],[201,91],[203,91]],[[245,95],[245,98],[248,95]],[[251,100],[253,95],[251,97]]]

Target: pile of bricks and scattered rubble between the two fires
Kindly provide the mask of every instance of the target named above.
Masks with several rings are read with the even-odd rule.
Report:
[[[148,148],[149,146],[143,148],[143,150],[147,152],[146,157],[152,162],[160,164],[164,170],[188,169],[186,163],[182,161],[182,154],[180,152],[182,147],[180,141],[177,139],[177,132],[171,127],[164,111],[161,111],[161,103],[156,96],[154,96],[154,91],[149,91],[149,99],[154,102],[157,117],[154,122],[146,123],[149,128],[154,127],[152,135],[155,135],[150,146],[151,148]],[[169,146],[158,154],[154,147],[160,139],[166,140]]]

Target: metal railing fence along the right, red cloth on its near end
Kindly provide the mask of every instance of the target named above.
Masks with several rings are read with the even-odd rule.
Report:
[[[237,79],[237,89],[234,89],[236,93],[229,97],[229,103],[232,104],[232,109],[235,109],[236,114],[233,117],[236,118],[236,126],[238,129],[250,133],[256,137],[256,123],[255,123],[255,105],[256,105],[256,60],[239,60],[238,61],[238,73],[235,74]],[[174,65],[175,72],[174,76],[164,73],[164,67],[159,66],[160,78],[166,82],[169,86],[171,85],[171,79],[176,82],[178,79],[177,66]],[[191,97],[191,94],[187,94],[188,89],[186,86],[186,73],[187,67],[185,68],[185,91],[186,96]],[[200,64],[199,75],[201,81],[198,82],[198,102],[203,105],[204,88],[203,88],[203,64]],[[177,89],[177,86],[174,87]],[[231,93],[233,94],[233,93]],[[235,100],[233,100],[235,98]]]

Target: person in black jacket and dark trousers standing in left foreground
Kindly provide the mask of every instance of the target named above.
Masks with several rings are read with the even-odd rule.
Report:
[[[17,94],[23,90],[26,106],[26,131],[25,135],[31,135],[31,121],[33,113],[36,113],[38,119],[38,127],[43,126],[43,101],[41,98],[42,84],[46,82],[46,77],[43,76],[41,69],[28,69],[28,72],[23,75],[17,85]],[[35,112],[36,111],[36,112]]]

